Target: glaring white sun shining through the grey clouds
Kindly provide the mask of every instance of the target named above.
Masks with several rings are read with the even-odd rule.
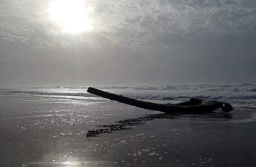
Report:
[[[81,33],[92,28],[87,15],[90,12],[82,0],[53,1],[49,14],[57,22],[64,33]]]

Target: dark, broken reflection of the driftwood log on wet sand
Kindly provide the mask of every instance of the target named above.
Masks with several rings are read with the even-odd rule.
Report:
[[[133,129],[134,126],[145,123],[146,121],[156,120],[156,119],[178,119],[178,118],[193,118],[200,119],[204,118],[204,120],[216,120],[220,118],[231,119],[232,115],[223,113],[223,112],[213,112],[209,114],[184,114],[184,113],[161,113],[156,115],[146,115],[143,117],[132,118],[127,120],[121,120],[116,122],[116,124],[112,125],[100,125],[99,129],[92,129],[86,132],[86,136],[88,138],[98,136],[99,134],[107,134],[111,131],[122,131],[127,129]],[[215,119],[214,119],[215,118]]]

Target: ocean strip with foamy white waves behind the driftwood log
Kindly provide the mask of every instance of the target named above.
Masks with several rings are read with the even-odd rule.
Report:
[[[160,86],[101,86],[94,87],[132,99],[156,103],[184,102],[190,97],[228,102],[234,107],[256,108],[256,84],[198,84]],[[73,99],[90,102],[108,101],[91,93],[88,86],[81,87],[39,87],[39,88],[0,88],[0,95],[21,95],[51,99]]]

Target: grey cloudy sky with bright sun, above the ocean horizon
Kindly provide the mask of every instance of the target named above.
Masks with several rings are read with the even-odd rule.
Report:
[[[255,0],[0,0],[0,87],[256,84]]]

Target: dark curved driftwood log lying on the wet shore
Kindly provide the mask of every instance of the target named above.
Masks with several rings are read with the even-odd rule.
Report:
[[[109,100],[115,100],[131,106],[141,107],[144,109],[150,109],[154,111],[163,111],[165,113],[211,113],[218,108],[228,113],[233,110],[233,107],[226,102],[218,102],[216,100],[196,99],[191,97],[188,101],[179,104],[156,104],[153,102],[145,102],[141,100],[131,99],[123,97],[122,95],[115,95],[106,91],[97,90],[89,87],[87,90],[89,93],[99,95]]]

